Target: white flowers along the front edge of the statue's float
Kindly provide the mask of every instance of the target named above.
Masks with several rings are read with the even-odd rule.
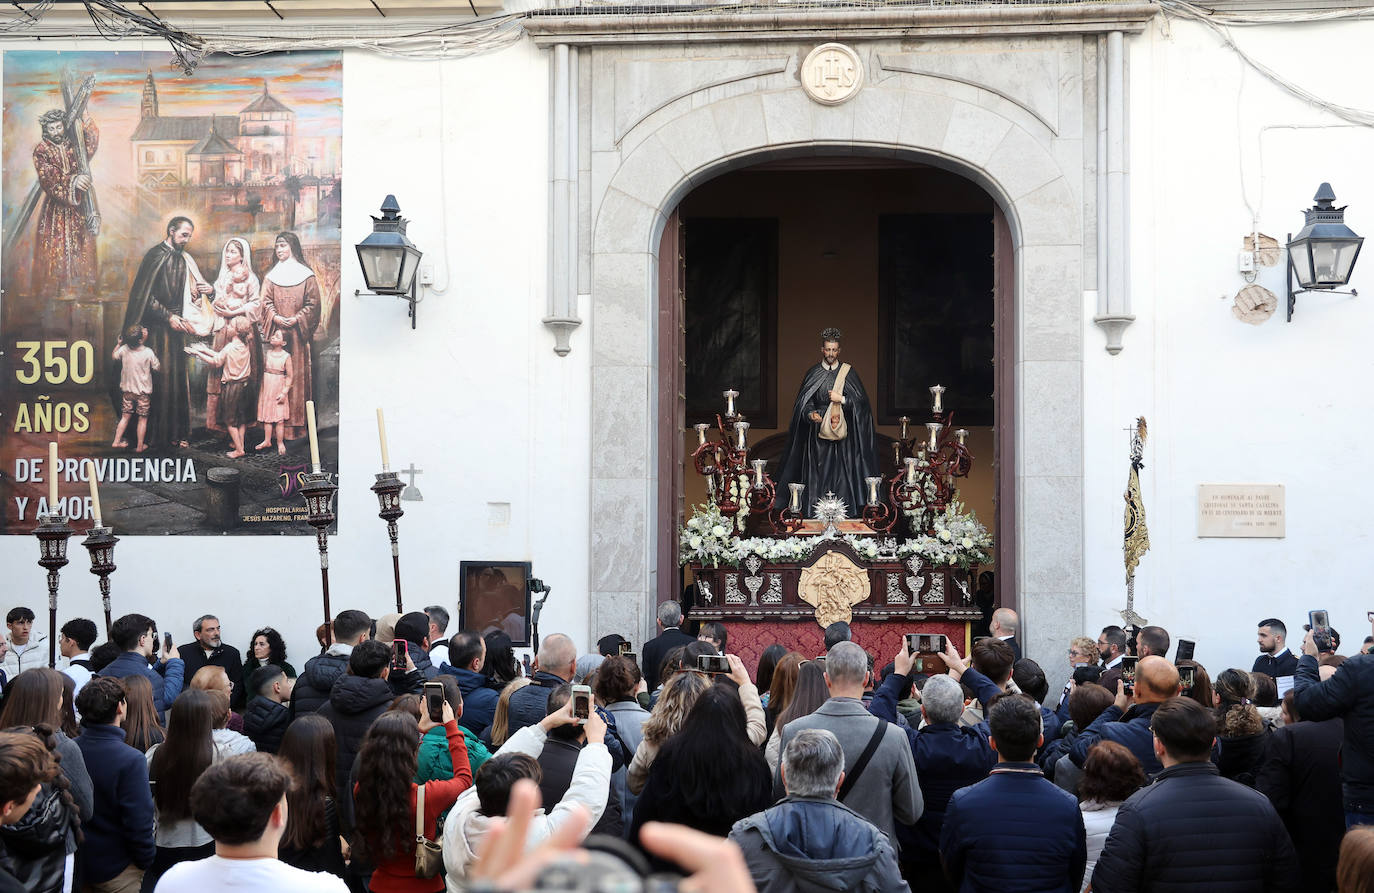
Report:
[[[730,518],[721,515],[714,504],[695,506],[692,512],[677,534],[677,558],[683,565],[695,562],[710,567],[738,567],[749,555],[757,555],[769,563],[797,562],[823,543],[819,537],[801,536],[742,539],[734,533]],[[746,514],[741,511],[738,521],[742,522]],[[743,529],[743,523],[739,528]],[[897,544],[897,558],[919,555],[932,566],[958,565],[963,569],[992,561],[992,536],[958,500],[936,517],[933,529],[933,534]],[[866,561],[881,561],[892,551],[892,540],[853,533],[842,539]]]

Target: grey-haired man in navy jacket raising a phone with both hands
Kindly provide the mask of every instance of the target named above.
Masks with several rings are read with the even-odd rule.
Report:
[[[921,690],[919,731],[905,727],[911,757],[921,783],[925,812],[914,826],[897,826],[897,845],[901,868],[908,878],[940,878],[940,830],[944,827],[949,798],[960,787],[977,784],[988,778],[998,758],[988,745],[988,724],[963,725],[963,688],[954,673],[973,688],[984,705],[1002,690],[976,669],[965,668],[952,644],[945,644],[948,676],[932,676]],[[897,721],[897,702],[907,691],[915,655],[907,651],[905,640],[892,659],[893,672],[872,694],[868,710],[889,723]]]

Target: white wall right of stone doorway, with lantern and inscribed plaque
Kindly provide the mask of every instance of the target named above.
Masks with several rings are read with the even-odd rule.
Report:
[[[1234,36],[1322,98],[1370,106],[1359,85],[1374,74],[1374,23]],[[1371,434],[1374,264],[1362,256],[1355,268],[1352,284],[1367,297],[1300,295],[1292,323],[1283,321],[1282,267],[1259,278],[1279,297],[1267,323],[1235,320],[1231,298],[1245,284],[1235,264],[1252,225],[1246,199],[1260,232],[1283,242],[1326,180],[1337,203],[1349,205],[1347,223],[1374,235],[1374,131],[1289,96],[1201,26],[1157,19],[1129,41],[1129,66],[1138,319],[1120,356],[1107,356],[1084,313],[1088,633],[1120,622],[1123,429],[1145,415],[1153,548],[1136,578],[1139,613],[1175,637],[1197,639],[1197,658],[1213,676],[1250,668],[1264,617],[1282,618],[1300,648],[1301,625],[1316,607],[1331,611],[1349,654],[1369,635],[1366,610],[1374,609],[1364,585],[1374,556],[1362,462]],[[1265,129],[1275,125],[1304,129]],[[1197,486],[1205,482],[1283,484],[1286,539],[1198,539]]]

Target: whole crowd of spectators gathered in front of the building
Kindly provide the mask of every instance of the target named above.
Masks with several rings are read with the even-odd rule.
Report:
[[[1112,625],[1051,692],[1007,609],[967,654],[833,624],[750,669],[665,602],[638,654],[554,633],[528,672],[440,606],[345,610],[300,673],[209,614],[180,647],[70,620],[49,669],[33,620],[0,643],[0,893],[1374,892],[1374,636],[1294,654],[1265,618],[1209,672]]]

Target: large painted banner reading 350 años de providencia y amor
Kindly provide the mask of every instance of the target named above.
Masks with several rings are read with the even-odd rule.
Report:
[[[308,533],[338,467],[342,56],[5,52],[0,525]],[[91,460],[91,462],[87,462]]]

